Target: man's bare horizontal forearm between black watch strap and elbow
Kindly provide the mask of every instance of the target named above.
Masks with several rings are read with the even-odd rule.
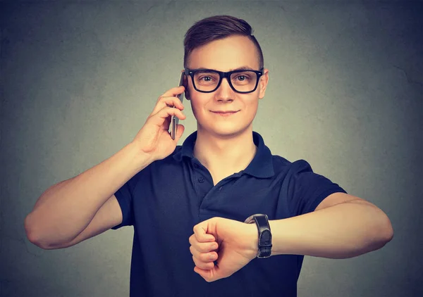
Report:
[[[385,213],[363,201],[348,201],[269,224],[271,255],[352,258],[383,247],[393,236]]]

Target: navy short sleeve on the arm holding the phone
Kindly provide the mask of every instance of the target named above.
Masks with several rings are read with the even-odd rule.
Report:
[[[146,169],[146,168],[145,168]],[[145,170],[144,169],[144,170]],[[125,182],[123,186],[116,191],[114,194],[118,200],[119,206],[121,206],[122,211],[122,222],[111,229],[119,229],[123,226],[132,226],[134,215],[133,215],[133,198],[135,193],[135,187],[140,181],[140,172],[131,177],[128,182]]]

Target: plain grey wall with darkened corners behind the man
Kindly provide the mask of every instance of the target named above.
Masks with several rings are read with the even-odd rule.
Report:
[[[423,296],[422,2],[2,1],[1,282],[9,296],[128,296],[133,229],[44,251],[42,192],[109,158],[176,87],[183,35],[216,14],[255,29],[269,68],[254,130],[272,153],[386,212],[393,241],[305,257],[299,296]],[[196,129],[185,103],[185,133]],[[87,197],[89,198],[89,197]]]

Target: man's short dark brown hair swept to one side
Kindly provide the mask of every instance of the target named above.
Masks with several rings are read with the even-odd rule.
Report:
[[[231,15],[214,15],[199,20],[185,34],[183,66],[187,67],[188,57],[197,47],[231,35],[241,35],[248,37],[255,44],[259,53],[259,68],[261,69],[264,66],[263,52],[252,32],[252,27],[245,20]]]

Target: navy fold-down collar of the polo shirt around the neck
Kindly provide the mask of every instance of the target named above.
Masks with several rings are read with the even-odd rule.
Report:
[[[197,139],[197,131],[192,132],[185,141],[183,141],[182,148],[173,155],[173,158],[177,161],[182,161],[183,157],[189,158],[192,160],[194,157],[194,144]],[[252,139],[257,146],[257,153],[252,159],[251,163],[241,171],[241,173],[246,173],[254,177],[267,178],[274,176],[274,167],[273,167],[273,156],[270,149],[264,144],[262,136],[253,131]]]

